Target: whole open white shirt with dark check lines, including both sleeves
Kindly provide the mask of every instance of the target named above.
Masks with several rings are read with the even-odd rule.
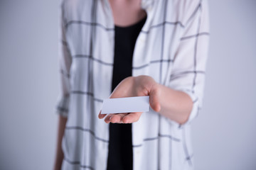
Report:
[[[149,75],[193,99],[188,123],[143,113],[132,124],[134,170],[193,169],[190,123],[201,108],[208,55],[206,0],[142,0],[147,19],[134,49],[132,75]],[[61,6],[57,110],[68,116],[63,169],[106,169],[108,125],[97,118],[111,93],[114,21],[108,0]]]

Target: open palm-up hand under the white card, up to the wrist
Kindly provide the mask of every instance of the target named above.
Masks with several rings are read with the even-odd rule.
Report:
[[[161,107],[159,103],[159,84],[149,76],[127,77],[121,81],[112,92],[110,98],[123,98],[135,96],[149,96],[149,104],[151,108],[159,112]],[[117,113],[106,114],[99,113],[99,118],[105,118],[106,123],[134,123],[137,122],[142,112],[136,113]]]

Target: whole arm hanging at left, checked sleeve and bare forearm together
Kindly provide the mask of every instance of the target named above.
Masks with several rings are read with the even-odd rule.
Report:
[[[65,18],[64,18],[64,1],[61,4],[60,10],[60,48],[58,56],[58,64],[60,69],[60,98],[57,105],[58,118],[58,138],[57,147],[55,155],[54,169],[61,169],[61,164],[63,162],[63,150],[61,148],[61,142],[63,139],[63,134],[65,130],[65,124],[68,120],[68,106],[70,101],[70,67],[72,63],[72,57],[70,55],[70,50],[68,47],[68,42],[65,37]]]

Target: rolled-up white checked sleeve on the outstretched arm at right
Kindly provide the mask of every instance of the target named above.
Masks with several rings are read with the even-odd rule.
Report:
[[[187,18],[169,81],[172,89],[185,92],[193,100],[193,109],[184,125],[196,118],[202,107],[209,42],[208,1],[203,0],[191,9]]]

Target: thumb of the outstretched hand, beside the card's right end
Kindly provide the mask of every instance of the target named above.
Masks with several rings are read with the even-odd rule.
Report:
[[[151,91],[149,92],[149,104],[151,108],[159,112],[161,110],[161,105],[160,105],[160,91],[157,87],[152,88]]]

